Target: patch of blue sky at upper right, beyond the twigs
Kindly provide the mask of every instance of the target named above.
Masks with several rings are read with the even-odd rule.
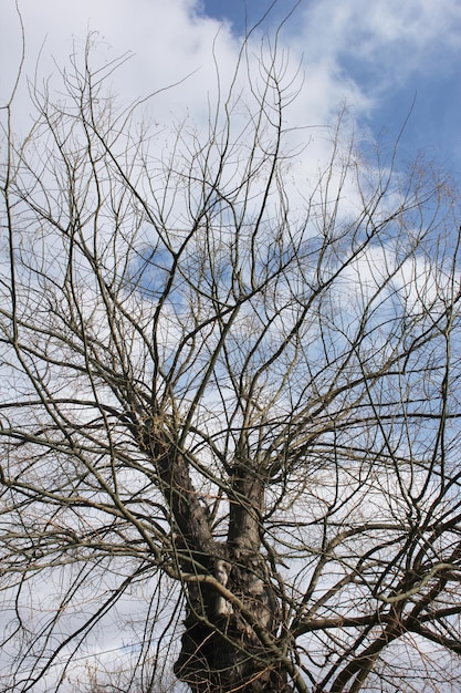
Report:
[[[338,69],[373,100],[369,112],[362,114],[363,122],[371,127],[377,137],[383,132],[388,132],[391,137],[397,135],[411,111],[401,144],[402,155],[411,157],[416,152],[425,151],[429,157],[434,157],[457,177],[461,177],[461,3],[444,0],[401,0],[400,3],[375,0],[374,3],[384,9],[383,15],[389,22],[387,48],[398,45],[394,54],[381,45],[384,50],[380,60],[370,54],[367,60],[364,55],[364,44],[373,42],[374,31],[379,34],[379,28],[364,15],[360,22],[360,13],[354,17],[354,10],[347,21],[347,10],[340,11],[342,6],[355,6],[367,13],[367,4],[360,0],[336,3],[328,0],[301,0],[294,21],[287,22],[286,34],[297,40],[303,34],[310,37],[308,25],[297,23],[296,18],[315,14],[323,4],[327,8],[323,15],[328,19],[331,12],[333,22],[328,31],[328,21],[325,21],[322,40],[325,44],[334,43],[337,21],[343,13],[344,35],[347,37],[352,28],[355,30],[353,33],[362,33],[362,42],[358,40],[356,43],[339,45],[336,56]],[[268,11],[266,27],[275,27],[283,13],[294,4],[284,0],[275,6],[272,0],[205,0],[202,7],[209,17],[230,21],[232,30],[239,34],[244,30],[245,21],[251,24]],[[442,19],[444,12],[446,21]],[[352,27],[354,20],[355,25]],[[422,50],[419,58],[417,37],[408,31],[408,24],[412,22],[417,27],[418,22],[426,25],[433,22],[432,32],[426,31],[426,37],[425,31],[420,32],[419,46]],[[449,41],[448,33],[451,34]],[[457,33],[458,41],[454,39]],[[318,55],[321,58],[321,52]]]

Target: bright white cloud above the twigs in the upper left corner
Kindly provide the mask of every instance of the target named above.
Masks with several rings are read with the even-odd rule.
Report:
[[[13,11],[13,0],[8,0],[1,31],[1,63],[9,64],[14,75],[19,61],[20,27]],[[181,80],[180,90],[163,96],[161,105],[177,111],[178,117],[206,106],[208,89],[216,83],[212,45],[219,35],[218,48],[221,70],[232,70],[237,44],[230,32],[218,21],[199,18],[191,0],[81,0],[63,3],[43,0],[40,3],[20,2],[27,46],[25,70],[33,75],[41,50],[42,77],[65,66],[75,50],[83,52],[88,32],[97,32],[99,54],[111,60],[125,52],[133,59],[114,76],[117,91],[124,100],[144,96]],[[111,48],[111,51],[107,51]],[[104,52],[106,53],[104,55]],[[54,59],[53,64],[51,56]],[[2,91],[8,91],[8,81]],[[4,93],[1,94],[4,103]],[[158,107],[158,104],[156,104]],[[164,110],[167,116],[168,107]],[[169,115],[170,118],[170,115]]]

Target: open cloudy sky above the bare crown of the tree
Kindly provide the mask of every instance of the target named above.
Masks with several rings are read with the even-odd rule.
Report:
[[[114,76],[129,100],[181,82],[153,102],[159,122],[200,120],[220,71],[230,75],[245,22],[271,0],[18,0],[27,62],[41,76],[65,66],[88,31],[104,60],[126,51],[133,59]],[[292,9],[279,0],[261,25],[269,32]],[[2,0],[0,103],[8,99],[21,50],[14,0]],[[331,124],[347,104],[359,132],[395,136],[413,104],[402,154],[423,148],[455,175],[461,172],[461,2],[459,0],[300,0],[284,24],[279,50],[302,63],[304,84],[292,117],[296,126]],[[54,63],[52,61],[54,59]],[[18,122],[30,112],[23,95]],[[295,115],[294,115],[295,113]]]

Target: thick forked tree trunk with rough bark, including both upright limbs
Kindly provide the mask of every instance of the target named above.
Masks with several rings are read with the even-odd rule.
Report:
[[[263,482],[248,467],[235,469],[228,541],[218,542],[185,455],[153,424],[142,428],[140,443],[161,479],[178,530],[179,567],[189,575],[176,675],[192,693],[289,693],[276,647],[279,604],[260,554]],[[226,599],[217,582],[234,599]]]

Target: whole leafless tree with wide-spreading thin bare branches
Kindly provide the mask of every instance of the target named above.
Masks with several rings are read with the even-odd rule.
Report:
[[[342,120],[298,178],[301,86],[250,40],[169,148],[91,43],[20,144],[4,110],[3,690],[65,687],[140,593],[132,690],[459,672],[457,194]]]

